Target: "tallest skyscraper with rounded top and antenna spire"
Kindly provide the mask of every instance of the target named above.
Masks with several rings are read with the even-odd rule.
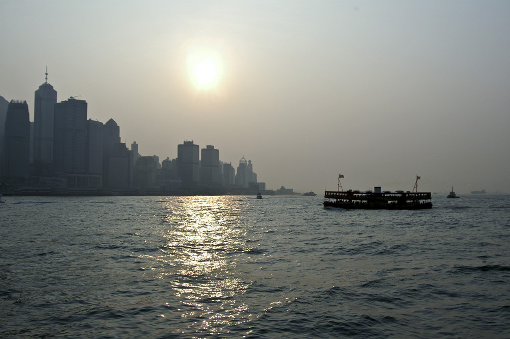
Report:
[[[34,165],[37,174],[48,170],[53,161],[53,117],[57,91],[46,81],[35,91],[34,100]]]

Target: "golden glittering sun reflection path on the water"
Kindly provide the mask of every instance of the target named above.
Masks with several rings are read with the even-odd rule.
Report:
[[[181,304],[187,331],[221,333],[251,320],[240,296],[248,289],[235,272],[246,248],[240,202],[218,197],[179,197],[167,202],[160,258],[172,269],[168,279]]]

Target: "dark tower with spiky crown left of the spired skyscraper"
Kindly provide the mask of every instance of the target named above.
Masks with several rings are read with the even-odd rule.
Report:
[[[4,127],[4,178],[24,184],[29,178],[30,114],[27,101],[11,100]]]

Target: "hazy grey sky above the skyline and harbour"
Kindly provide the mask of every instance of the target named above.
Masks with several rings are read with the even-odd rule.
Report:
[[[510,191],[510,1],[2,0],[0,61],[31,120],[47,66],[142,155],[214,145],[268,189]]]

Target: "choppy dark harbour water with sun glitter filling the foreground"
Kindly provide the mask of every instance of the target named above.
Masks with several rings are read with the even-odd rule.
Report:
[[[5,199],[3,338],[510,337],[510,196]]]

